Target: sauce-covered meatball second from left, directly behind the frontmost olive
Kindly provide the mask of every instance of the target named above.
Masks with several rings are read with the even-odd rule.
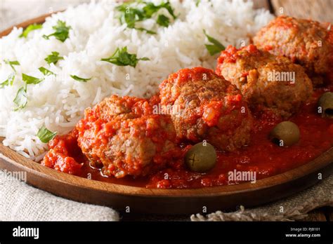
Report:
[[[159,94],[162,106],[176,111],[171,118],[178,140],[207,140],[223,151],[249,143],[252,116],[247,103],[211,69],[181,69],[160,84]]]

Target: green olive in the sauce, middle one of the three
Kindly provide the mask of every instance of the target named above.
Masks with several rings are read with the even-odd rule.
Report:
[[[290,121],[278,123],[270,131],[269,139],[280,147],[290,147],[299,141],[299,127]]]

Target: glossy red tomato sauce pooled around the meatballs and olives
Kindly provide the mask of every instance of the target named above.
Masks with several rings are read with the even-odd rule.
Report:
[[[68,135],[55,137],[49,143],[51,154],[46,155],[42,164],[89,179],[148,188],[198,188],[237,184],[240,183],[239,180],[229,179],[229,172],[234,170],[255,172],[256,179],[263,179],[308,163],[332,147],[333,120],[322,118],[317,111],[318,98],[326,91],[333,91],[333,87],[315,90],[312,99],[298,114],[289,118],[289,121],[299,126],[301,132],[297,144],[286,148],[270,142],[268,135],[280,122],[279,118],[268,112],[254,111],[251,143],[230,153],[218,152],[216,166],[206,173],[190,172],[183,161],[174,161],[169,162],[166,169],[147,177],[104,177],[100,169],[91,167],[79,150],[77,140],[73,140],[77,133],[75,130]],[[185,154],[190,145],[181,144],[179,147]]]

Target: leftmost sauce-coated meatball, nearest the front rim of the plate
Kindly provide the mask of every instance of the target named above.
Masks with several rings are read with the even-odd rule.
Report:
[[[169,115],[153,114],[150,101],[112,95],[85,111],[78,144],[91,165],[120,178],[144,176],[178,155]]]

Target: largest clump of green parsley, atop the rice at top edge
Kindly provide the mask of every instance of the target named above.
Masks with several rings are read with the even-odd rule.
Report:
[[[143,5],[143,6],[142,6]],[[151,2],[138,1],[136,6],[133,3],[124,3],[120,6],[117,6],[117,11],[119,11],[119,21],[120,23],[126,23],[128,28],[138,29],[140,31],[148,32],[149,34],[156,34],[152,30],[145,29],[142,27],[136,27],[137,22],[141,22],[143,20],[148,20],[152,18],[159,10],[166,9],[168,13],[172,16],[172,18],[176,19],[176,15],[174,14],[174,9],[171,7],[169,1],[162,2],[159,5],[155,5]],[[170,19],[166,15],[158,15],[157,17],[157,25],[162,27],[168,27],[170,24]]]

